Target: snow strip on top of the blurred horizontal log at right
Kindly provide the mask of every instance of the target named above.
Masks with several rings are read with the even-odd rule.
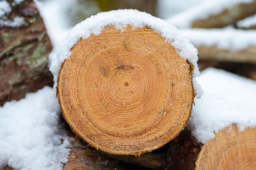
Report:
[[[221,49],[243,50],[256,46],[256,31],[233,28],[225,29],[181,29],[195,46],[218,46]]]

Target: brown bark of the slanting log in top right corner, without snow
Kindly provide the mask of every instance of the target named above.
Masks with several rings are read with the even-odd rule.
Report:
[[[191,27],[202,28],[221,28],[230,24],[235,24],[237,21],[243,18],[249,17],[256,13],[256,0],[251,3],[241,3],[221,11],[216,15],[211,15],[205,19],[195,20]]]

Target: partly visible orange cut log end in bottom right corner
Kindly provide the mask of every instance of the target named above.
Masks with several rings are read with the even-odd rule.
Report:
[[[240,132],[232,125],[203,146],[196,169],[255,169],[255,160],[256,128]]]

